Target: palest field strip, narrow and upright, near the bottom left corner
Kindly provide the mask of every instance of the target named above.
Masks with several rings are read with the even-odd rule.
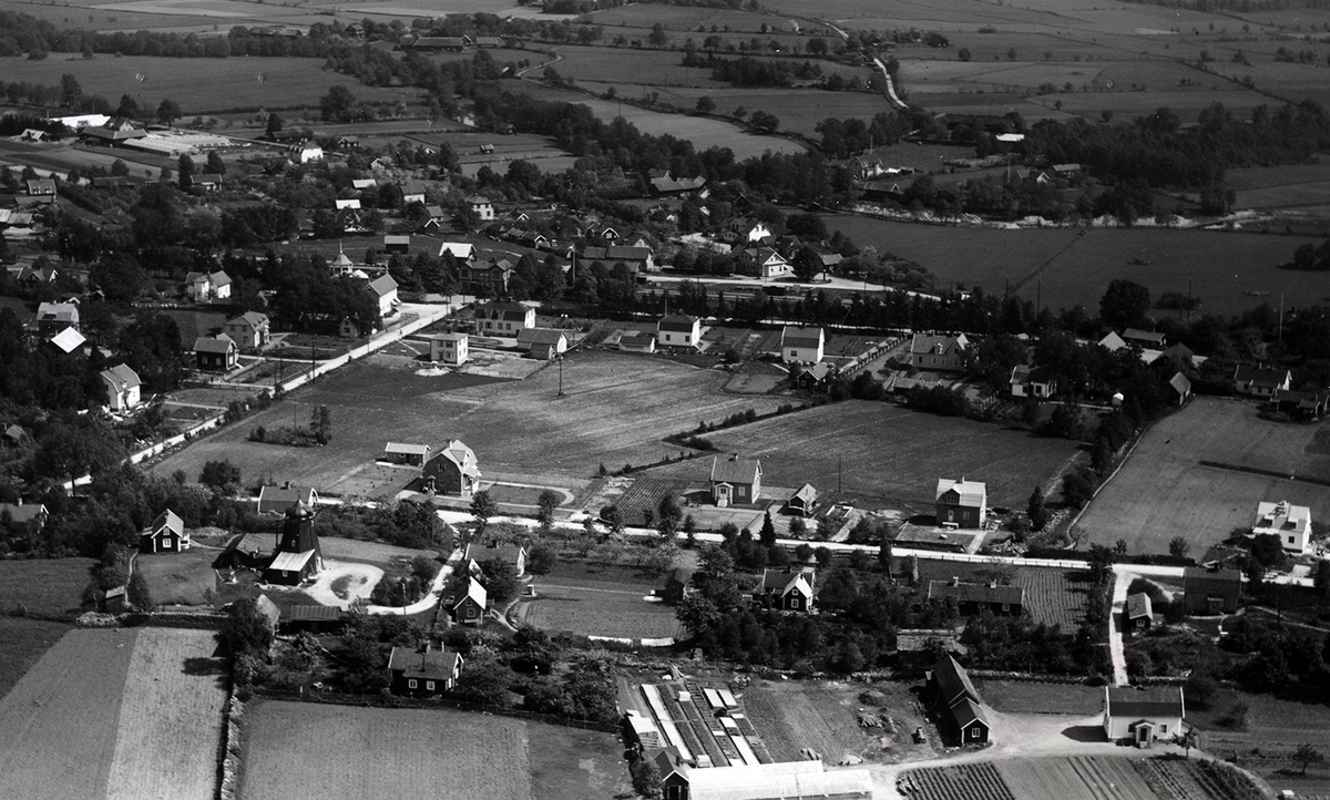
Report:
[[[124,688],[106,800],[210,800],[226,703],[211,630],[138,631]],[[162,753],[170,752],[169,759]]]

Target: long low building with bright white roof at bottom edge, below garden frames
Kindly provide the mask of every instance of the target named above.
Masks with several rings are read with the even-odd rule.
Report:
[[[656,760],[664,800],[868,800],[872,776],[867,769],[827,772],[822,760],[781,761],[694,768],[661,751]]]

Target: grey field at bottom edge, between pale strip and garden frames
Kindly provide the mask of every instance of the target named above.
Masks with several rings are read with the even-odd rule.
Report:
[[[581,800],[626,789],[608,734],[448,710],[259,700],[238,796],[395,800]],[[539,791],[537,791],[539,787]]]

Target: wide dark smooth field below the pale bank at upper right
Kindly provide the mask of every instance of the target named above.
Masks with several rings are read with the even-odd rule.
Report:
[[[1009,286],[1021,298],[1041,298],[1055,310],[1097,308],[1115,278],[1134,280],[1156,298],[1164,291],[1185,294],[1192,282],[1201,311],[1218,315],[1262,303],[1277,306],[1281,292],[1302,303],[1330,296],[1315,272],[1278,268],[1299,246],[1318,245],[1317,237],[1153,227],[1080,235],[1071,229],[942,229],[866,217],[829,217],[827,225],[861,247],[872,245],[919,263],[940,286],[982,286],[990,292]],[[1149,263],[1128,263],[1132,259]]]

